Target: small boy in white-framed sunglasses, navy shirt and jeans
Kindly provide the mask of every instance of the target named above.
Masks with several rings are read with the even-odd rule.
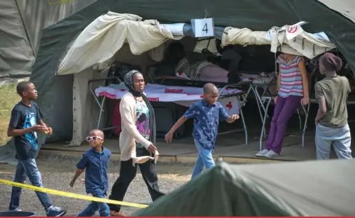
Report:
[[[70,182],[70,186],[73,187],[76,179],[85,170],[85,189],[87,194],[91,194],[94,197],[105,198],[107,195],[107,189],[109,188],[109,181],[107,178],[107,166],[109,163],[109,157],[111,151],[103,148],[105,135],[103,131],[94,129],[90,131],[86,140],[89,142],[92,149],[86,151],[83,154],[83,158],[76,164],[76,173]],[[92,201],[82,212],[78,214],[78,217],[92,217],[95,212],[100,213],[100,217],[109,217],[109,206],[103,202]]]

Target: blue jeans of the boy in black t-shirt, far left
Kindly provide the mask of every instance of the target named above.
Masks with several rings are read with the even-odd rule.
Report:
[[[30,179],[32,186],[43,187],[41,173],[37,168],[36,160],[19,160],[17,163],[16,173],[14,177],[14,182],[25,183],[26,177]],[[10,210],[19,208],[20,205],[20,195],[22,188],[12,186],[11,199],[10,199]],[[41,201],[41,204],[48,211],[52,207],[52,201],[46,193],[36,191],[36,195]]]

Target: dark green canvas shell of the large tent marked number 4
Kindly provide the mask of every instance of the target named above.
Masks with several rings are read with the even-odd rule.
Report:
[[[82,134],[86,134],[83,126],[87,129],[95,126],[97,116],[94,112],[98,109],[94,99],[89,98],[87,86],[78,87],[75,85],[73,74],[56,76],[56,71],[71,43],[87,25],[102,14],[109,11],[137,14],[143,19],[156,19],[160,23],[190,23],[191,19],[213,17],[216,33],[220,32],[220,28],[223,31],[228,26],[268,31],[273,26],[281,27],[307,21],[308,24],[304,25],[304,29],[312,33],[325,32],[354,69],[355,32],[351,30],[355,25],[351,17],[352,8],[355,8],[352,1],[342,1],[334,7],[328,0],[312,0],[304,3],[261,0],[219,1],[217,5],[212,1],[195,1],[193,5],[189,1],[175,0],[164,1],[163,5],[156,0],[94,1],[42,31],[30,80],[39,90],[38,104],[45,113],[45,121],[54,129],[54,134],[47,140],[72,140],[73,143],[80,144],[83,140]],[[324,22],[325,20],[327,22]],[[143,68],[152,62],[145,53],[134,56],[127,46],[122,47],[116,57],[127,63],[138,62]],[[93,78],[92,71],[92,68],[87,68],[82,72],[87,77],[84,80]],[[95,76],[100,78],[106,75]],[[78,88],[83,89],[81,93],[87,93],[81,96],[80,101],[73,95],[74,89]],[[81,114],[79,118],[74,116],[74,111],[83,108],[89,112]]]

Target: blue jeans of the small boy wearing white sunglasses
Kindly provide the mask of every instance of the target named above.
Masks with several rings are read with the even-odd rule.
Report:
[[[93,197],[105,198],[105,193],[103,190],[97,190],[92,193]],[[109,206],[103,202],[92,201],[82,212],[78,214],[78,217],[92,217],[95,212],[98,211],[100,217],[109,217]]]

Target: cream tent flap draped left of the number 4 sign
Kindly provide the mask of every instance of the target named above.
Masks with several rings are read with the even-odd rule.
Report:
[[[108,12],[79,34],[59,65],[58,75],[78,73],[103,63],[114,56],[123,43],[129,43],[132,54],[138,55],[159,47],[166,39],[182,39],[182,36],[173,36],[156,20],[142,21],[134,14]]]

